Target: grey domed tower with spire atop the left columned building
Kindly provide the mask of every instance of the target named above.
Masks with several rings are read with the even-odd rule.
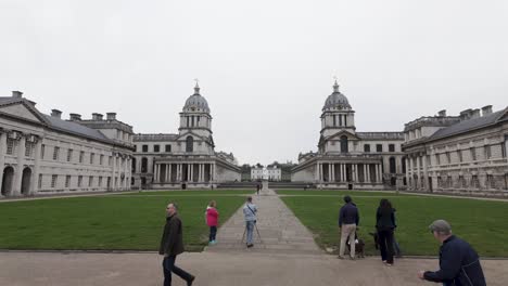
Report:
[[[208,103],[200,94],[200,86],[195,82],[194,94],[186,101],[180,113],[180,134],[192,132],[202,138],[212,138],[212,116]]]

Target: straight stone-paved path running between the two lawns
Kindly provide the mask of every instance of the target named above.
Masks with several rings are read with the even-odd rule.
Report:
[[[243,205],[217,233],[217,245],[206,251],[250,251],[276,253],[321,253],[313,234],[300,222],[277,194],[264,185],[259,195],[253,195],[257,206],[257,230],[254,229],[254,247],[242,243],[245,231]],[[261,236],[261,237],[259,237]]]

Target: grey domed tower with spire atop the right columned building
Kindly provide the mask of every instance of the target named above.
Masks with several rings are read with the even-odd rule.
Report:
[[[333,84],[333,93],[325,102],[321,114],[321,136],[328,138],[341,131],[355,133],[355,112],[347,98],[339,91],[339,83]]]

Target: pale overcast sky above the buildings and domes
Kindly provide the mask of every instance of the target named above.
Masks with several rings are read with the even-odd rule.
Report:
[[[0,96],[176,133],[200,79],[216,151],[317,150],[336,73],[357,131],[508,106],[508,1],[0,0]]]

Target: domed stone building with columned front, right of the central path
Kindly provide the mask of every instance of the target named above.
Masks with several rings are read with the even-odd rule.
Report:
[[[403,187],[403,132],[357,132],[355,110],[335,81],[322,107],[318,151],[299,155],[291,180],[323,188]]]

